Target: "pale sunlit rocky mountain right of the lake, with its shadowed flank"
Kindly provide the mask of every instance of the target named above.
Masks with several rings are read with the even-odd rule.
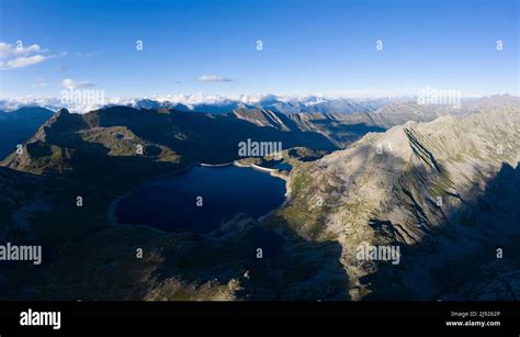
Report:
[[[493,261],[498,247],[520,235],[519,146],[519,105],[408,122],[294,170],[293,181],[308,179],[293,203],[324,200],[318,239],[341,244],[353,300],[436,299],[446,293],[446,263],[464,263],[483,249],[482,259]],[[313,226],[298,228],[310,236]],[[364,243],[398,246],[399,263],[360,260]],[[494,284],[463,279],[455,278],[456,287]]]

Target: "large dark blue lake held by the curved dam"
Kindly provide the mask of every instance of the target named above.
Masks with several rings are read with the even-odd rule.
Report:
[[[285,181],[252,168],[201,167],[134,189],[115,209],[120,224],[207,233],[238,213],[259,217],[285,200]],[[202,196],[202,206],[197,206]]]

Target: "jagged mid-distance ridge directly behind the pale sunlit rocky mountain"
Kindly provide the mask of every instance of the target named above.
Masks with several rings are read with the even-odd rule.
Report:
[[[237,108],[230,113],[259,126],[283,131],[315,132],[327,137],[337,147],[347,147],[369,132],[384,132],[408,121],[431,122],[440,116],[462,116],[489,110],[518,106],[520,98],[491,96],[482,99],[464,99],[460,106],[446,104],[420,104],[417,99],[387,101],[385,104],[368,104],[346,113],[341,109],[276,110],[265,108]],[[372,106],[372,108],[368,108]]]

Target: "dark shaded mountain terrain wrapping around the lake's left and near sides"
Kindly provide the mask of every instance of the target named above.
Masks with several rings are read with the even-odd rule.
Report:
[[[320,245],[289,233],[285,235],[291,238],[291,246],[298,248],[284,254],[284,238],[252,218],[237,218],[210,235],[161,233],[110,223],[110,203],[128,189],[195,160],[222,162],[235,158],[237,139],[255,136],[260,141],[276,141],[279,136],[289,144],[330,146],[315,133],[261,128],[228,116],[131,108],[84,115],[57,112],[24,144],[21,154],[13,153],[2,162],[5,168],[0,182],[9,209],[0,218],[0,234],[15,238],[18,244],[43,245],[46,252],[41,268],[20,263],[3,273],[0,299],[344,296],[344,289],[340,293],[334,289],[323,292],[318,287],[310,292],[305,288],[291,290],[292,284],[321,274],[323,266],[328,265],[323,260],[339,267],[338,249],[332,249],[336,245],[327,244],[328,248],[316,252]],[[136,145],[144,145],[143,155],[135,153]],[[25,177],[24,183],[11,183],[18,181],[16,177]],[[37,183],[29,183],[33,180]],[[78,195],[83,200],[81,206],[76,204]],[[15,218],[22,215],[26,231],[18,235]],[[264,262],[259,263],[256,248],[264,236],[278,244],[265,248]],[[143,249],[143,258],[136,257],[137,248]],[[281,271],[284,265],[297,268]],[[335,278],[332,283],[324,282],[323,288],[344,288],[344,282],[338,282],[344,276]],[[273,280],[279,281],[272,284]]]

